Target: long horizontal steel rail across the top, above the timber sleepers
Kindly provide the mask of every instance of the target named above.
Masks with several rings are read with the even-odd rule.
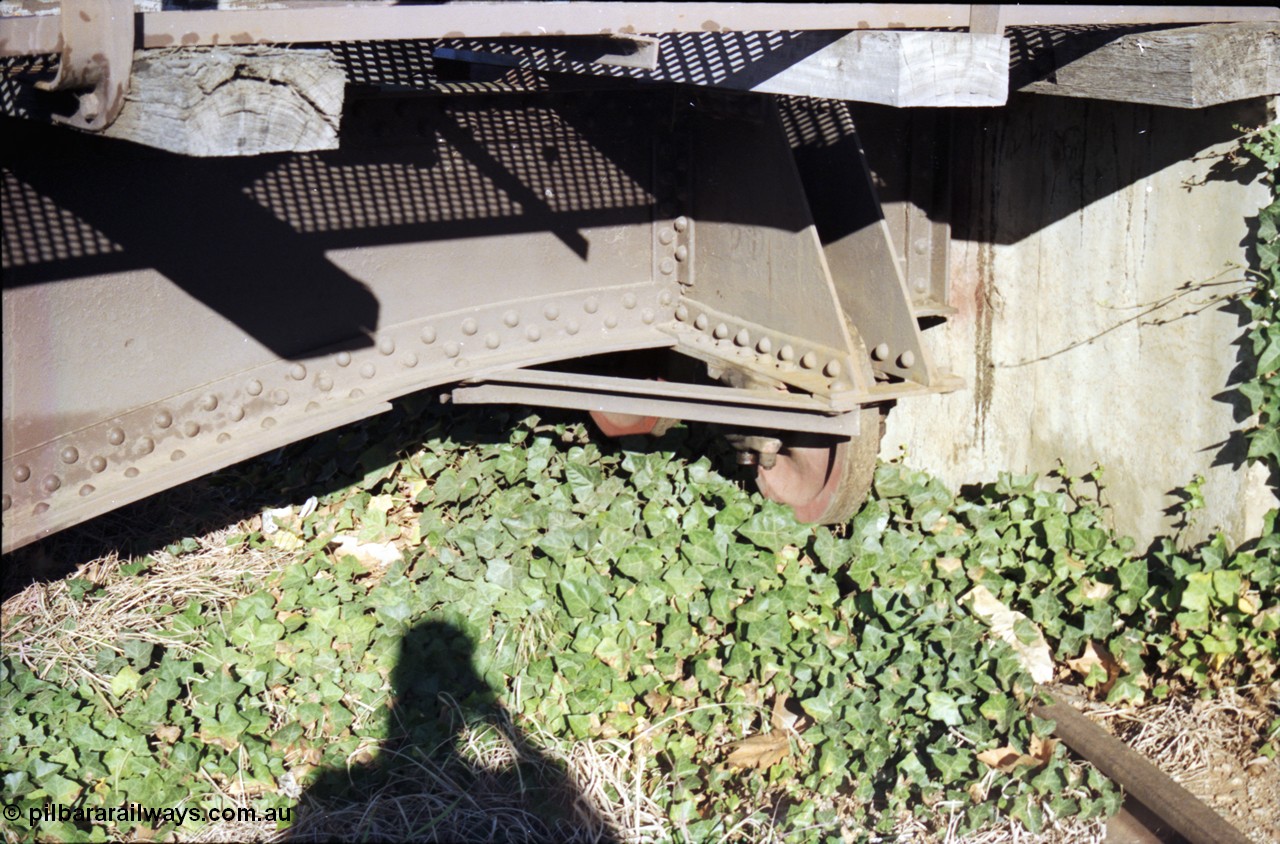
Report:
[[[978,6],[977,9],[991,9]],[[1132,26],[1280,20],[1253,6],[1000,6],[1004,27]],[[142,12],[143,49],[456,37],[969,28],[968,4],[870,3],[466,3],[424,6],[353,4],[223,12]],[[59,53],[60,15],[0,18],[0,56]]]

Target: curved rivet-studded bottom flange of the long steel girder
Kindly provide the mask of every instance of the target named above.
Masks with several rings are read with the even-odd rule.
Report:
[[[276,359],[101,419],[4,460],[4,551],[216,469],[485,371],[671,346],[653,283],[407,320],[371,346]]]

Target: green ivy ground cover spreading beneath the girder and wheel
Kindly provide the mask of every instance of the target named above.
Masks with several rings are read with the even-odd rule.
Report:
[[[628,451],[536,416],[412,402],[390,416],[228,473],[330,489],[227,539],[229,557],[280,558],[236,599],[175,594],[145,610],[146,635],[120,629],[78,662],[42,663],[6,633],[3,802],[22,809],[8,840],[201,831],[33,827],[46,800],[239,800],[296,821],[298,790],[358,802],[398,767],[456,756],[458,724],[485,720],[625,747],[666,834],[687,840],[868,838],[913,813],[936,831],[948,817],[961,834],[1007,817],[1039,831],[1108,815],[1119,793],[1043,740],[1028,649],[1047,644],[1060,676],[1076,661],[1114,701],[1276,676],[1274,512],[1247,548],[1137,555],[1080,482],[1002,475],[957,497],[888,464],[833,533],[745,492],[685,428]],[[184,540],[114,576],[205,553]],[[64,590],[84,613],[111,599],[83,579]],[[545,800],[539,829],[562,806]]]

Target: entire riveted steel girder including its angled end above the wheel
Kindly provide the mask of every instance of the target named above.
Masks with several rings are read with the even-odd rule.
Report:
[[[215,160],[8,122],[5,551],[488,375],[472,400],[846,433],[941,388],[873,368],[864,336],[914,327],[901,277],[833,272],[767,97],[383,97],[344,120],[338,151]],[[509,375],[659,347],[788,392]]]

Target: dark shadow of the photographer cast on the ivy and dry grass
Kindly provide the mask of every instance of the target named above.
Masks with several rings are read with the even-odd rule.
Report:
[[[388,738],[370,761],[323,771],[278,840],[616,841],[566,765],[512,722],[472,652],[452,624],[411,628]]]

